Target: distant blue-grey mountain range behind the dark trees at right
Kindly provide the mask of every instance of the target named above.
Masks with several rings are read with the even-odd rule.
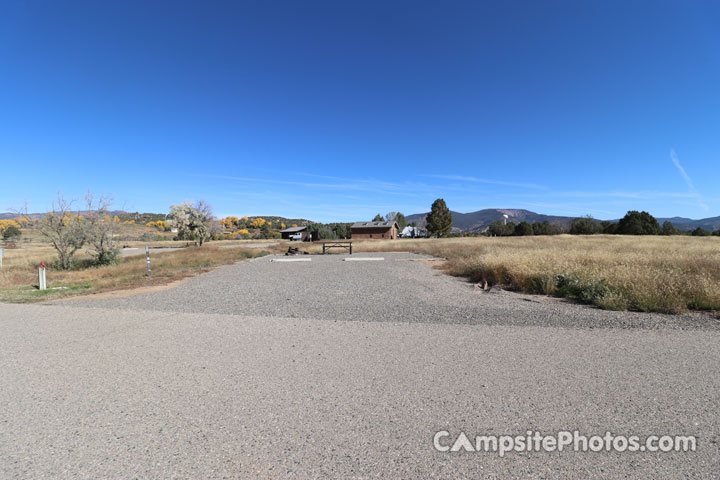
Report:
[[[575,217],[561,217],[556,215],[544,215],[542,213],[531,212],[530,210],[513,209],[513,208],[487,208],[478,210],[477,212],[460,213],[451,211],[453,216],[453,231],[456,232],[475,232],[482,233],[496,220],[502,220],[503,215],[508,216],[508,222],[550,222],[551,224],[568,225]],[[408,223],[416,222],[422,227],[425,224],[427,213],[415,213],[405,217]],[[693,220],[691,218],[673,217],[658,218],[660,225],[666,220],[675,225],[680,230],[694,230],[702,227],[705,230],[720,230],[720,217],[703,218]],[[617,219],[611,220],[617,222]]]

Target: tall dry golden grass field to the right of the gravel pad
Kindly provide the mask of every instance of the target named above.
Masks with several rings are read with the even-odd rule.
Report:
[[[356,251],[447,258],[447,273],[613,310],[720,310],[720,239],[618,235],[377,240]]]

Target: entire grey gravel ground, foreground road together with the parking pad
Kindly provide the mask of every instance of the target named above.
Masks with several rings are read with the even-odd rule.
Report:
[[[716,321],[480,293],[382,256],[0,305],[0,478],[718,477]],[[574,429],[698,449],[433,448],[439,430]]]

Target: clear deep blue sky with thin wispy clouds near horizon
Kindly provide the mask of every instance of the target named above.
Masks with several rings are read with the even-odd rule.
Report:
[[[0,167],[0,209],[716,216],[720,3],[4,1]]]

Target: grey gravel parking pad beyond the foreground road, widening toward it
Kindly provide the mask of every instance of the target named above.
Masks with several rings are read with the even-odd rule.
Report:
[[[410,253],[312,255],[312,262],[267,256],[194,277],[171,290],[118,299],[78,299],[67,306],[163,312],[221,313],[326,320],[399,321],[563,327],[720,329],[705,314],[611,312],[538,295],[483,292]]]

